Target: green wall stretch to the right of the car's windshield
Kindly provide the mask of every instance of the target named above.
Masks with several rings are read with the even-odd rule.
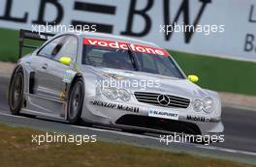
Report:
[[[198,84],[218,92],[256,95],[256,63],[171,51],[186,74],[197,74]]]

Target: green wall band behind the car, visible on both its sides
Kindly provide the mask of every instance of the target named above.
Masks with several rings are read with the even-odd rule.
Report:
[[[0,37],[0,61],[16,62],[18,32],[0,28]],[[256,63],[176,51],[171,51],[171,53],[185,73],[195,73],[200,77],[198,84],[203,88],[219,92],[256,95]]]

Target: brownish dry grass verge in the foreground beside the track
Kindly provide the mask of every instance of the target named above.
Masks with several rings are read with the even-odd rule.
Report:
[[[80,146],[67,143],[32,143],[32,134],[46,134],[24,127],[0,125],[0,166],[33,167],[245,167],[249,165],[229,160],[169,153],[145,149],[121,143],[83,143]]]

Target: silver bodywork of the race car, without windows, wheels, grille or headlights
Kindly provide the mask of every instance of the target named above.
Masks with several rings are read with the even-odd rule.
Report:
[[[78,55],[71,66],[65,66],[57,61],[38,56],[38,50],[40,49],[37,49],[33,53],[19,60],[17,67],[21,68],[24,73],[25,102],[20,111],[21,113],[67,119],[66,106],[68,93],[73,80],[79,75],[82,77],[84,83],[83,109],[80,117],[85,122],[159,131],[168,131],[167,128],[161,129],[161,125],[165,126],[169,124],[169,122],[170,124],[173,124],[174,122],[175,125],[178,126],[172,127],[170,131],[176,131],[174,128],[176,129],[184,125],[187,128],[191,128],[191,132],[194,134],[223,132],[224,126],[221,122],[221,101],[217,93],[200,88],[196,84],[190,82],[186,77],[180,79],[142,71],[97,68],[89,65],[82,65],[80,62],[82,57],[82,40],[84,38],[131,42],[153,47],[158,47],[157,45],[149,42],[97,33],[84,33],[81,35],[64,33],[53,37],[48,42],[63,35],[74,36],[78,39]],[[48,42],[45,44],[48,44]],[[43,44],[42,47],[44,47],[45,44]],[[47,68],[45,67],[47,70],[43,70],[45,65],[48,65]],[[180,68],[178,69],[180,70]],[[180,71],[182,72],[182,70]],[[112,76],[123,78],[124,80],[158,80],[160,85],[144,90],[140,90],[139,88],[127,88],[126,90],[131,94],[131,99],[129,101],[110,99],[101,93],[101,88],[96,83],[99,80],[111,79]],[[35,83],[32,84],[32,80]],[[34,91],[31,91],[31,89]],[[185,98],[184,100],[189,100],[189,102],[188,106],[185,108],[167,107],[161,104],[150,104],[139,101],[135,96],[136,93],[149,93],[159,96],[161,95],[162,97],[175,96]],[[159,96],[157,99],[159,99]],[[210,113],[195,111],[193,108],[194,101],[206,97],[210,97],[213,100],[212,111]],[[148,127],[146,125],[140,126],[140,123],[136,123],[136,125],[125,125],[120,124],[119,122],[116,124],[118,120],[127,115],[132,116],[131,118],[135,118],[130,120],[131,124],[135,124],[137,116],[140,116],[138,117],[140,119],[141,116],[143,116],[145,120],[149,119],[149,121],[150,118],[153,118],[152,124],[156,124],[155,126],[157,126],[157,128],[153,128],[150,125]],[[190,127],[190,125],[193,127]],[[199,130],[196,130],[197,128]]]

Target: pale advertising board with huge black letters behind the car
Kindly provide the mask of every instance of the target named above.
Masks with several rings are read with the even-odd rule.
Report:
[[[255,0],[0,0],[0,4],[0,27],[32,29],[32,24],[46,22],[96,25],[100,32],[173,50],[256,60]],[[163,26],[174,22],[199,29],[167,36]]]

